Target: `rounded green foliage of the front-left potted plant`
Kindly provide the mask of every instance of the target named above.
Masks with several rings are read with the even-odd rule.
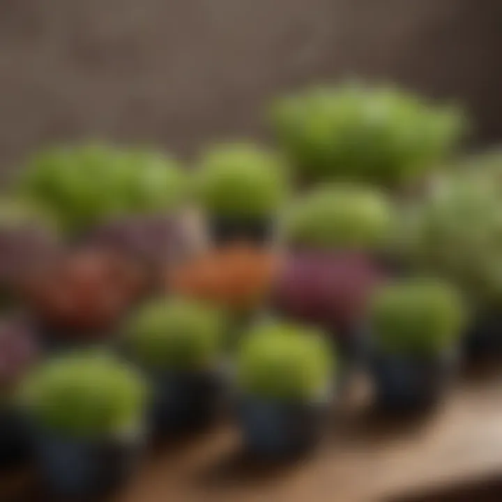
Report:
[[[131,367],[105,353],[70,353],[29,375],[21,403],[38,427],[81,439],[140,432],[149,391]]]

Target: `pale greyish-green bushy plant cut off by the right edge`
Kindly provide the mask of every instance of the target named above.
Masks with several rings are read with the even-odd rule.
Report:
[[[400,213],[395,249],[413,268],[455,283],[478,307],[502,301],[502,211],[496,183],[443,178]],[[484,179],[484,178],[483,178]]]

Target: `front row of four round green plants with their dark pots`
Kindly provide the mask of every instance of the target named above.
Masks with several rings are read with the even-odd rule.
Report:
[[[377,403],[417,409],[437,402],[462,333],[456,292],[436,280],[387,284],[367,323]],[[52,489],[89,494],[123,480],[149,438],[211,425],[225,404],[245,446],[261,458],[315,446],[340,383],[326,334],[262,320],[229,352],[227,330],[222,312],[206,303],[144,304],[116,353],[59,354],[18,382],[9,406],[17,413],[17,448],[31,443]]]

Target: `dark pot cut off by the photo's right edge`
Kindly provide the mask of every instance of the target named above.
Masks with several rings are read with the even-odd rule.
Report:
[[[471,359],[502,357],[502,314],[478,314],[466,331],[464,352]]]

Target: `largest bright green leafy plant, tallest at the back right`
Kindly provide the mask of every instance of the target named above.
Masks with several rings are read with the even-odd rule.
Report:
[[[466,131],[456,107],[390,86],[345,84],[278,99],[275,135],[304,181],[399,188],[442,165]]]

